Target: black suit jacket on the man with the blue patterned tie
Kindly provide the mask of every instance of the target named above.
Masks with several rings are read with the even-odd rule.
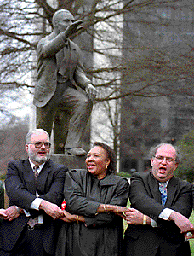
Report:
[[[130,242],[128,250],[131,252],[127,255],[156,255],[158,247],[161,247],[165,256],[190,255],[189,244],[184,242],[180,229],[173,221],[163,220],[158,216],[168,207],[189,218],[192,212],[192,185],[172,177],[168,182],[168,198],[165,206],[161,203],[158,186],[151,172],[135,173],[131,179],[129,193],[131,207],[154,219],[158,227],[129,224],[125,232],[125,242]]]

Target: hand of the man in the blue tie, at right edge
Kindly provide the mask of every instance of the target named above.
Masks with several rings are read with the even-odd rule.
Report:
[[[189,219],[180,214],[180,212],[172,212],[169,216],[169,220],[174,221],[177,227],[180,228],[181,233],[185,233],[194,229],[193,224],[191,224]]]

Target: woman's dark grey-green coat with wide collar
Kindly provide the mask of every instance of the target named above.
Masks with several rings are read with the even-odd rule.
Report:
[[[66,210],[83,215],[85,224],[64,223],[57,245],[57,256],[120,256],[123,219],[114,213],[96,214],[100,203],[126,206],[128,180],[113,173],[101,180],[88,171],[66,172]]]

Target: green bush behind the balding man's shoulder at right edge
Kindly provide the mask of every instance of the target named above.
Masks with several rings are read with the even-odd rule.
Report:
[[[194,181],[194,131],[186,133],[176,143],[176,146],[180,148],[182,160],[175,171],[175,175],[192,183]]]

